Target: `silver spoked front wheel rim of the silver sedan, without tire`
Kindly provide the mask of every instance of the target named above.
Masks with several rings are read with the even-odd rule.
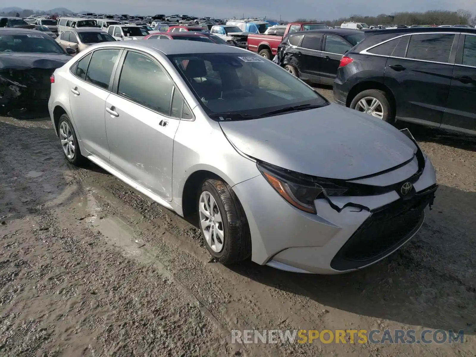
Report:
[[[215,198],[208,191],[203,191],[198,201],[200,225],[208,246],[216,253],[221,252],[225,241],[223,221]]]

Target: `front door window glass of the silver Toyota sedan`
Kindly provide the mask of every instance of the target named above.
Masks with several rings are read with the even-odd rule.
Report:
[[[172,82],[157,63],[140,53],[128,52],[119,77],[120,96],[169,115],[172,88]]]

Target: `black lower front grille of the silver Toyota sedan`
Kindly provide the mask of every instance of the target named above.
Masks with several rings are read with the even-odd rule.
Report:
[[[423,223],[424,210],[433,204],[436,188],[434,185],[408,200],[400,198],[372,213],[337,252],[331,268],[364,267],[405,243]]]

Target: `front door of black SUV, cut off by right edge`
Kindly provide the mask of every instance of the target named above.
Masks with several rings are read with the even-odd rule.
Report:
[[[461,34],[441,127],[476,133],[476,35]]]

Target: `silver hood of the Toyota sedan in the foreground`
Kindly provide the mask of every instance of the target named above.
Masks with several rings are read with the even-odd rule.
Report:
[[[415,144],[390,124],[337,104],[261,119],[220,121],[220,126],[241,152],[323,178],[375,174],[417,152]]]

